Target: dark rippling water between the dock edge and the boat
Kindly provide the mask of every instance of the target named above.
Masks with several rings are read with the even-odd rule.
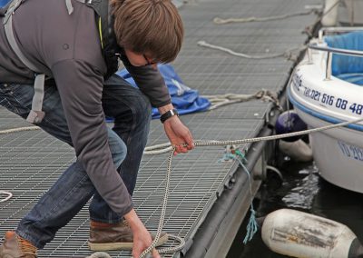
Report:
[[[282,181],[277,174],[269,173],[267,182],[260,187],[254,200],[258,217],[280,208],[296,209],[343,223],[356,233],[362,242],[363,193],[354,193],[329,184],[319,176],[319,169],[314,163],[284,162],[280,164],[280,172],[283,175]],[[247,218],[249,215],[250,213]],[[262,242],[260,233],[256,233],[253,239],[244,245],[246,221],[240,226],[240,232],[227,257],[289,257],[271,252]]]

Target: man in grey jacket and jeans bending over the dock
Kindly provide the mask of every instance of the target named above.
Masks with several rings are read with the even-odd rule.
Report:
[[[181,49],[181,16],[171,0],[15,1],[0,9],[0,104],[72,145],[76,161],[5,234],[0,257],[36,257],[91,197],[90,248],[132,248],[139,257],[152,235],[133,209],[132,192],[151,106],[176,153],[193,148],[157,69]],[[119,59],[139,89],[114,74]],[[34,94],[39,85],[42,97]],[[105,116],[113,117],[112,129]],[[166,240],[162,233],[159,244]]]

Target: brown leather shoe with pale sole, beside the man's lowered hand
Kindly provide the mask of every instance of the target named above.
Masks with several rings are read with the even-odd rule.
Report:
[[[156,246],[167,241],[168,234],[162,232]],[[126,221],[114,224],[91,222],[88,246],[92,251],[132,250],[132,243],[132,230]]]

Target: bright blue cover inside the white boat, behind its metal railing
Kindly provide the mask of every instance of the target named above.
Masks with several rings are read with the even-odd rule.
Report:
[[[325,37],[329,47],[363,51],[363,32]],[[332,74],[351,84],[363,85],[363,57],[333,55]]]

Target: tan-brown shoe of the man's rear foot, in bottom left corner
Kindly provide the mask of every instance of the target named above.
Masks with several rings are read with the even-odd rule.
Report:
[[[15,232],[8,231],[0,246],[0,258],[36,258],[36,247]]]

